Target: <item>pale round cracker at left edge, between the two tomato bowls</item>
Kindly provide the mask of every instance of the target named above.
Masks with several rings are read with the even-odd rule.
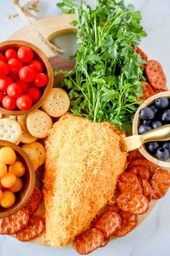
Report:
[[[0,139],[16,143],[22,134],[20,124],[10,118],[0,119]]]

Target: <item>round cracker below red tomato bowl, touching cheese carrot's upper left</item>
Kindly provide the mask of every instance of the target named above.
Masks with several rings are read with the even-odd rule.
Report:
[[[27,130],[38,139],[46,138],[53,126],[52,119],[46,112],[37,110],[27,115]]]

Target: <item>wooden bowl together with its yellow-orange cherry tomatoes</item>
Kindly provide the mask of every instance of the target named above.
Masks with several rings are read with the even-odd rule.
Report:
[[[20,210],[35,186],[35,170],[27,154],[9,141],[0,140],[0,218]]]

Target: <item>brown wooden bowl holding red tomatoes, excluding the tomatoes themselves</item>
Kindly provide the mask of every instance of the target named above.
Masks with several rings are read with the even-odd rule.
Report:
[[[53,87],[54,75],[51,64],[50,62],[48,62],[48,59],[43,51],[41,51],[41,49],[39,49],[37,46],[20,40],[3,41],[0,43],[0,52],[4,53],[4,51],[6,51],[9,47],[19,49],[20,46],[28,46],[33,49],[35,59],[39,59],[43,63],[45,73],[48,76],[48,83],[45,87],[45,90],[43,91],[41,99],[39,99],[38,102],[35,102],[35,104],[33,104],[33,106],[30,107],[29,110],[6,110],[4,107],[0,107],[0,113],[3,115],[25,115],[29,112],[32,112],[33,110],[37,110],[46,100],[46,96]]]

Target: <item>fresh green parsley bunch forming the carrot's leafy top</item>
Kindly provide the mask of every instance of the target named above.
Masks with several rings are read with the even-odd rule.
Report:
[[[94,122],[108,121],[124,132],[132,128],[140,80],[145,62],[135,53],[146,36],[140,12],[124,1],[98,0],[92,9],[85,1],[77,5],[63,0],[58,6],[75,13],[77,20],[76,65],[65,73],[62,86],[69,91],[73,115]]]

